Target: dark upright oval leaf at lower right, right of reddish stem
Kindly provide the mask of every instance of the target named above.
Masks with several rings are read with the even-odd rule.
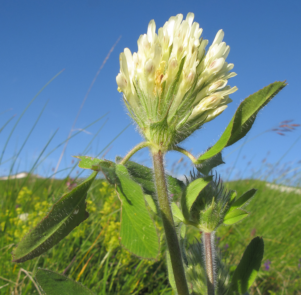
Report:
[[[260,237],[255,237],[247,246],[243,257],[234,271],[230,290],[244,294],[253,284],[259,271],[263,257],[264,243]]]

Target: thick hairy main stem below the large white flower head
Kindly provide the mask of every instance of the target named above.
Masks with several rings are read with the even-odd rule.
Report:
[[[153,152],[155,181],[157,187],[159,207],[163,221],[167,246],[172,264],[172,271],[179,295],[189,295],[185,271],[182,262],[181,250],[178,242],[178,235],[172,218],[172,212],[168,200],[166,179],[163,165],[163,154],[161,150]]]

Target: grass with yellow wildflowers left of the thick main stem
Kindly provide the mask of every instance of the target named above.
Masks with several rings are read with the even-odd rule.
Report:
[[[0,191],[5,192],[0,213],[0,294],[38,294],[30,279],[38,267],[64,273],[96,294],[172,293],[162,258],[141,260],[120,246],[120,201],[103,180],[96,180],[88,193],[90,216],[85,222],[40,257],[11,262],[12,249],[45,216],[54,203],[52,196],[67,190],[67,180],[55,180],[56,193],[48,193],[50,181],[30,178],[23,187],[22,180],[0,181]],[[24,213],[27,220],[22,221]]]

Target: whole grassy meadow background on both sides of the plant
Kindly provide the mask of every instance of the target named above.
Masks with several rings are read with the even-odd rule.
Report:
[[[54,180],[49,191],[50,184],[49,179],[35,177],[0,181],[1,295],[38,294],[33,283],[38,267],[64,273],[96,294],[173,294],[165,257],[145,261],[120,246],[120,202],[114,188],[102,179],[88,193],[86,221],[42,256],[21,264],[11,262],[12,249],[45,216],[54,196],[75,185],[70,179]],[[250,216],[239,224],[221,226],[216,233],[230,274],[250,240],[262,236],[265,253],[251,294],[301,294],[300,192],[281,192],[281,187],[259,180],[230,182],[226,187],[238,195],[258,189],[247,206]]]

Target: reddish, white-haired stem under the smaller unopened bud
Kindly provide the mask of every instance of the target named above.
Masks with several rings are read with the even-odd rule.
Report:
[[[206,260],[206,274],[207,274],[207,292],[208,295],[214,295],[214,270],[213,270],[213,253],[214,246],[212,245],[213,233],[203,233],[205,245],[205,260]]]

